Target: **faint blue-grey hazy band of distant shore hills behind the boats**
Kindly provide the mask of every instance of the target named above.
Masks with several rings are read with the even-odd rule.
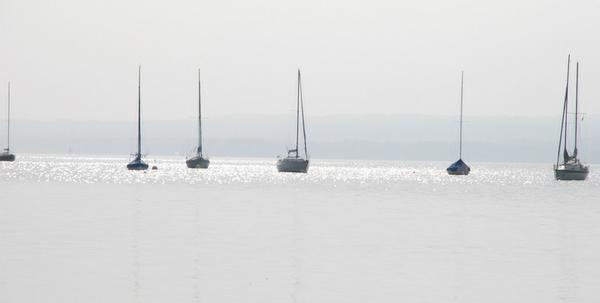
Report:
[[[295,113],[218,116],[204,121],[204,151],[213,158],[275,159],[295,144]],[[180,155],[197,142],[193,118],[144,121],[142,149],[148,157]],[[465,117],[464,159],[553,163],[560,130],[556,117]],[[571,127],[571,126],[570,126]],[[600,162],[600,123],[581,123],[582,160]],[[4,143],[5,126],[0,126]],[[336,115],[307,118],[313,158],[454,161],[458,157],[458,117],[415,115]],[[22,121],[13,123],[12,149],[23,153],[126,155],[136,149],[137,125],[118,121]],[[572,137],[572,136],[571,136]],[[573,138],[569,138],[572,146]]]

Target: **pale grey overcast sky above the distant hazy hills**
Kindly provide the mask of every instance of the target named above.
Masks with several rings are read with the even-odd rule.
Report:
[[[458,111],[558,116],[566,57],[600,115],[600,1],[0,0],[0,81],[15,119]],[[574,69],[573,69],[574,72]],[[0,86],[5,95],[5,86]],[[5,104],[5,98],[0,98]],[[2,108],[2,107],[0,107]],[[0,113],[4,113],[2,109]]]

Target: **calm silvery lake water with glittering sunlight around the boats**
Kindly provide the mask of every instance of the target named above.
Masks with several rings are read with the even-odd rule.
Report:
[[[0,302],[598,302],[600,178],[552,164],[17,155]]]

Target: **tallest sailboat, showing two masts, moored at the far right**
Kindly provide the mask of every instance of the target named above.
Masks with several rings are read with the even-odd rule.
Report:
[[[556,155],[556,164],[554,165],[554,177],[556,180],[585,180],[590,172],[589,167],[584,165],[577,158],[577,131],[579,124],[579,62],[575,72],[575,147],[573,155],[569,155],[567,150],[567,124],[569,116],[569,70],[571,65],[571,55],[567,61],[567,87],[565,91],[565,101],[563,103],[563,113],[560,125],[560,138],[558,140],[558,153]],[[564,134],[564,137],[563,137]],[[562,149],[563,162],[560,163],[560,154]]]

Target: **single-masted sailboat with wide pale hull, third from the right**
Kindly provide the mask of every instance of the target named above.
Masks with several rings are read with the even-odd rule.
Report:
[[[301,115],[302,114],[302,115]],[[300,137],[300,117],[302,117],[302,137],[304,140],[304,157],[300,155],[298,140]],[[304,99],[302,97],[302,80],[298,69],[298,94],[296,100],[296,148],[287,152],[287,157],[277,161],[277,170],[287,173],[306,173],[308,171],[308,149],[306,147],[306,127],[304,123]]]

